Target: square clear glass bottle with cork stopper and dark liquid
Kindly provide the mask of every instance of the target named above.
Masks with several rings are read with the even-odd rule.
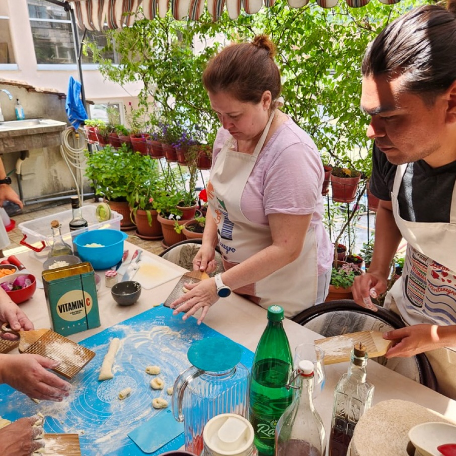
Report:
[[[334,391],[329,456],[346,456],[356,423],[372,404],[374,386],[366,381],[366,363],[366,347],[356,344],[348,372],[341,376]]]

